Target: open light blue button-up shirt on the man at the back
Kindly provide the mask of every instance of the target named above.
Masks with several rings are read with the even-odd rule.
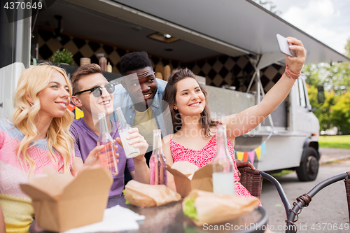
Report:
[[[154,112],[155,122],[157,122],[158,129],[162,131],[162,137],[167,136],[168,134],[172,134],[172,123],[165,122],[164,115],[169,114],[169,105],[165,103],[162,98],[165,90],[165,86],[167,82],[165,80],[161,80],[159,78],[155,78],[158,85],[158,90],[155,92],[155,96],[153,97],[153,103],[151,105],[151,109]],[[129,125],[133,125],[134,117],[135,117],[135,108],[134,103],[132,102],[132,98],[123,85],[116,85],[116,90],[113,92],[114,96],[114,109],[120,107],[123,110],[125,120]],[[164,106],[167,106],[166,110],[163,112]],[[169,119],[169,116],[167,116]],[[116,118],[116,120],[118,120]]]

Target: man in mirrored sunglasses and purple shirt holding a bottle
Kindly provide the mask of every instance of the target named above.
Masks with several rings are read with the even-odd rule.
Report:
[[[133,159],[127,159],[122,148],[118,123],[109,120],[109,115],[113,113],[113,92],[114,85],[109,83],[102,75],[101,68],[97,64],[87,64],[81,66],[71,76],[73,86],[73,104],[78,106],[83,113],[83,118],[73,121],[71,133],[76,139],[75,154],[79,157],[80,165],[83,166],[91,148],[97,145],[99,137],[98,113],[106,113],[109,131],[113,139],[117,141],[118,150],[118,175],[113,176],[113,185],[109,192],[109,197],[118,197],[122,195],[124,189],[124,171],[127,169],[135,180],[148,183],[149,169],[146,164],[144,153],[148,144],[137,128],[130,129],[131,145],[138,147],[141,155]],[[81,159],[80,159],[81,158]]]

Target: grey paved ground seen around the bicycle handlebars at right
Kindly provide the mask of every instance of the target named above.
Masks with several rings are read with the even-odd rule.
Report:
[[[300,195],[309,192],[315,185],[327,178],[350,171],[350,150],[321,148],[323,153],[321,167],[318,171],[316,181],[300,182],[295,172],[281,178],[281,183],[288,202],[293,202]],[[332,163],[329,163],[333,161]],[[262,206],[269,216],[269,225],[273,232],[284,232],[286,224],[286,212],[279,198],[276,188],[269,181],[262,185]],[[319,228],[317,228],[319,227]],[[343,229],[339,229],[342,227]],[[347,230],[345,230],[348,227]],[[343,181],[339,181],[318,192],[312,199],[311,204],[305,207],[297,221],[297,232],[350,232],[349,215],[346,203],[346,192]]]

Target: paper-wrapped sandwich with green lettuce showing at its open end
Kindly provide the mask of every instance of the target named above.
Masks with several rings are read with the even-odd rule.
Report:
[[[192,202],[193,199],[194,202]],[[183,212],[186,215],[188,215],[188,208],[192,206],[191,202],[194,204],[195,210],[190,210],[192,213],[190,218],[197,226],[202,226],[204,223],[212,225],[232,220],[253,211],[259,204],[256,198],[218,195],[213,192],[192,190],[182,203]]]

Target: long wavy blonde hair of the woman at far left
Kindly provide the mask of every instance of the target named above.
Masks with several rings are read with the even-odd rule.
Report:
[[[26,167],[29,164],[29,171],[34,172],[35,162],[28,155],[27,149],[29,149],[30,143],[34,141],[34,145],[38,142],[38,129],[36,129],[36,118],[40,111],[41,104],[38,98],[38,93],[44,90],[50,83],[50,77],[54,71],[58,71],[64,76],[66,83],[69,87],[69,95],[72,94],[71,83],[66,75],[64,69],[50,64],[42,64],[39,66],[33,66],[26,69],[20,79],[15,90],[14,107],[15,110],[12,113],[12,122],[20,132],[25,134],[17,148],[17,158],[20,164],[22,160]],[[32,103],[27,100],[31,99]],[[66,110],[62,118],[53,118],[48,132],[46,133],[46,139],[48,141],[48,156],[50,160],[56,163],[56,169],[58,169],[59,158],[53,153],[52,148],[58,153],[58,156],[62,156],[64,161],[64,172],[69,171],[69,165],[71,164],[71,155],[74,151],[73,136],[69,132],[71,122],[73,122],[74,115],[71,111]],[[32,145],[32,146],[34,146]],[[21,155],[22,154],[22,155]],[[22,164],[23,165],[23,164]]]

